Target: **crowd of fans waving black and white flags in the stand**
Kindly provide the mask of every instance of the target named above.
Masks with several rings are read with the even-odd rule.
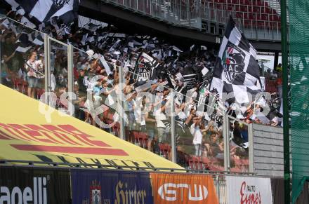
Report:
[[[13,12],[9,13],[9,17],[20,20],[20,16]],[[44,78],[39,76],[44,73],[42,35],[6,18],[0,24],[2,83],[39,99],[44,93]],[[156,36],[119,34],[112,25],[88,23],[84,27],[71,29],[46,25],[42,30],[74,46],[75,117],[102,128],[93,112],[89,111],[96,110],[95,115],[100,122],[112,124],[103,129],[119,135],[117,100],[121,93],[119,69],[122,69],[122,92],[126,98],[123,102],[126,140],[171,158],[171,121],[168,112],[171,110],[170,88],[173,88],[183,96],[176,97],[174,103],[178,163],[185,165],[188,159],[186,154],[191,154],[197,156],[195,159],[213,158],[207,163],[223,166],[225,109],[216,97],[215,111],[211,115],[201,114],[198,109],[200,106],[204,107],[202,111],[208,108],[209,86],[217,50],[201,45],[178,48]],[[60,43],[53,43],[51,49],[51,90],[58,97],[56,108],[66,109],[67,105],[62,104],[59,98],[67,91],[67,49]],[[143,76],[136,72],[148,66],[142,53],[151,56],[159,64],[155,77],[147,80],[150,81],[149,86],[143,86],[146,82],[140,81]],[[265,90],[272,93],[271,99],[265,101],[270,107],[268,115],[262,114],[265,104],[259,102],[251,102],[242,114],[236,114],[235,109],[228,107],[228,114],[245,123],[280,125],[281,71],[279,66],[265,72]],[[91,79],[94,76],[101,77],[93,83]],[[155,100],[140,96],[142,91],[154,95]],[[87,98],[87,93],[91,93],[92,98]],[[237,160],[248,157],[248,130],[247,125],[237,121],[230,121],[229,126],[231,157],[235,158],[233,161],[236,165]]]

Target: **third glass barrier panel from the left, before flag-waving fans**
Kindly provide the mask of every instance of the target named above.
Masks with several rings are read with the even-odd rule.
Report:
[[[106,57],[106,56],[105,56]],[[74,116],[119,136],[118,67],[104,57],[73,48]]]

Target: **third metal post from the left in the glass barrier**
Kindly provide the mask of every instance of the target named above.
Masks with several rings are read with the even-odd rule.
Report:
[[[119,124],[120,124],[120,130],[119,130],[119,137],[121,140],[126,140],[124,137],[124,95],[123,95],[123,81],[124,81],[124,70],[122,67],[118,67],[119,69],[119,94],[118,94],[118,102],[119,102]],[[132,123],[132,121],[129,121],[129,123]]]

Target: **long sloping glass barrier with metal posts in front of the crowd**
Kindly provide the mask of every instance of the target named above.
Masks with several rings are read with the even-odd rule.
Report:
[[[167,102],[164,101],[164,104],[169,104],[166,105],[166,112],[169,114],[164,116],[165,128],[156,125],[153,122],[154,118],[147,122],[144,121],[145,124],[132,120],[134,110],[130,108],[128,94],[119,92],[119,90],[124,90],[124,86],[131,85],[129,75],[135,77],[134,73],[130,71],[126,72],[126,76],[124,75],[124,70],[127,67],[120,67],[114,62],[103,60],[102,63],[105,69],[109,69],[109,72],[114,72],[115,75],[117,74],[119,80],[113,81],[111,87],[107,86],[107,81],[112,79],[93,78],[95,81],[91,81],[91,79],[86,79],[84,71],[86,69],[89,70],[88,72],[94,70],[93,66],[98,62],[98,58],[37,30],[29,29],[15,20],[6,19],[9,24],[33,36],[32,42],[35,43],[32,46],[34,48],[31,48],[31,46],[30,48],[20,47],[18,52],[14,52],[15,54],[12,55],[11,59],[17,65],[10,65],[12,67],[8,67],[6,64],[8,56],[4,55],[4,53],[7,50],[5,50],[6,52],[0,50],[1,61],[3,60],[0,65],[0,75],[4,85],[29,97],[41,100],[41,102],[45,102],[65,114],[75,116],[92,125],[97,125],[122,140],[127,140],[153,151],[174,163],[183,165],[189,171],[254,173],[254,143],[251,124],[225,115],[223,116],[223,125],[217,127],[209,123],[209,119],[204,116],[201,123],[208,125],[212,129],[209,130],[211,134],[205,135],[206,141],[194,145],[192,144],[192,133],[189,130],[183,130],[181,123],[176,120],[176,115],[173,114],[175,110],[178,109],[179,111],[178,100],[181,100],[184,95],[171,90],[165,85],[161,85],[162,94],[170,93],[172,96],[169,97]],[[30,81],[27,80],[27,73],[25,73],[24,69],[19,68],[24,67],[27,59],[29,59],[28,57],[32,55],[34,50],[39,56],[36,61],[39,71],[36,74],[41,75],[41,77],[37,78],[37,87],[31,88],[29,87]],[[93,82],[100,83],[100,86],[106,89],[107,94],[103,94],[101,98],[97,97],[98,95],[89,96],[84,81],[87,81],[88,85]],[[130,89],[130,86],[126,86],[126,88]],[[147,88],[149,87],[143,89],[147,90]],[[142,90],[136,91],[143,93]],[[99,92],[100,90],[98,90]],[[128,93],[131,93],[131,90],[128,90]],[[140,104],[145,113],[147,107],[143,103],[152,97],[157,97],[148,91],[143,94],[145,95],[145,101],[140,100]],[[89,97],[92,100],[87,100]],[[126,100],[124,100],[125,98]],[[188,107],[182,107],[182,109],[187,110],[189,113],[193,111],[189,105],[190,100],[194,99],[188,96],[187,99]],[[102,100],[107,108],[103,113],[97,114],[96,109],[99,107],[96,107],[96,102],[99,100]],[[162,104],[163,101],[159,99],[156,102]],[[204,111],[206,106],[208,105],[204,104],[203,100],[199,102],[199,107],[202,107],[201,112]],[[83,109],[90,111],[85,112]],[[94,111],[91,112],[91,110]],[[196,111],[200,110],[197,109]],[[240,135],[235,132],[239,132]]]

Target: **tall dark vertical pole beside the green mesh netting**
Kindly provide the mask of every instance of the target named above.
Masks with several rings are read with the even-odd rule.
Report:
[[[287,55],[287,1],[281,1],[281,46],[282,46],[282,100],[283,100],[283,154],[284,154],[284,203],[290,203],[290,154],[289,154],[289,90]]]

